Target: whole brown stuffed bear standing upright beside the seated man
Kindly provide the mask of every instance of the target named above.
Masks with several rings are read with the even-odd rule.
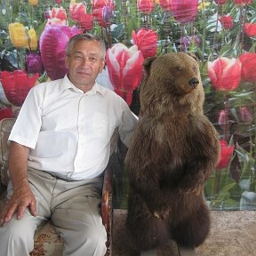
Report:
[[[169,239],[196,247],[210,230],[204,182],[220,155],[218,134],[204,116],[198,61],[166,53],[143,66],[139,124],[124,160],[130,182],[126,227],[140,251]]]

